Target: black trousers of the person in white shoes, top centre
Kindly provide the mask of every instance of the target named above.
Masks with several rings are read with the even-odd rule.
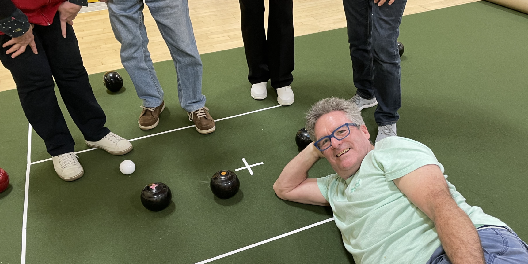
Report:
[[[293,0],[270,0],[268,38],[264,30],[264,0],[239,0],[242,40],[251,84],[267,82],[275,89],[294,81]]]

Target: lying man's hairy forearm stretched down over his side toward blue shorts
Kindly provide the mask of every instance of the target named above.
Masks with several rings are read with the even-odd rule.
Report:
[[[451,263],[485,263],[478,232],[466,212],[446,202],[435,209],[434,218],[438,237]]]

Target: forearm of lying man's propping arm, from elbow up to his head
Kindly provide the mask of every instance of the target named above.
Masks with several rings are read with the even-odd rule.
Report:
[[[310,144],[312,145],[312,144]],[[301,151],[293,160],[291,160],[274,184],[276,192],[288,192],[297,187],[308,177],[308,170],[312,168],[314,163],[319,159],[317,152],[308,145]],[[315,146],[313,147],[315,148]]]

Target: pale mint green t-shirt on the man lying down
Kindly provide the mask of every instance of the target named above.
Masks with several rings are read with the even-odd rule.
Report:
[[[424,264],[440,246],[435,224],[396,187],[398,179],[424,165],[444,167],[426,146],[390,136],[378,143],[352,177],[337,174],[317,179],[330,203],[343,243],[357,264]],[[447,175],[444,175],[447,181]],[[447,182],[452,197],[475,227],[506,226],[501,220],[472,207]]]

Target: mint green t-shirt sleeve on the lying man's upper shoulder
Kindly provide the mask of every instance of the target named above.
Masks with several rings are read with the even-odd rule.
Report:
[[[379,168],[384,171],[387,181],[403,177],[429,164],[438,165],[444,173],[444,167],[426,145],[397,136],[391,136],[376,143],[373,158]]]

